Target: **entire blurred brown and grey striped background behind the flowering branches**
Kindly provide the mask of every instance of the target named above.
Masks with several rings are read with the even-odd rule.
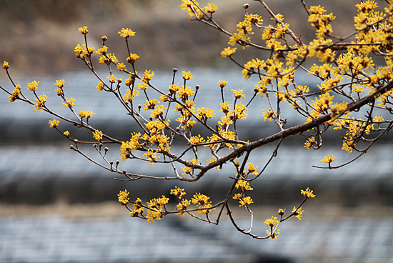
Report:
[[[284,21],[304,42],[313,38],[314,29],[300,1],[266,2],[272,11],[284,15]],[[332,26],[339,36],[352,32],[357,2],[306,1],[308,5],[321,4],[327,13],[337,16]],[[377,2],[383,10],[384,1]],[[76,110],[94,111],[90,123],[124,141],[131,132],[138,132],[138,127],[114,98],[96,91],[98,81],[76,59],[74,47],[84,43],[78,31],[81,26],[89,27],[88,41],[96,49],[101,36],[108,36],[109,52],[123,62],[126,45],[117,32],[122,27],[135,31],[129,41],[131,52],[140,56],[136,70],[154,70],[151,83],[162,89],[171,84],[174,67],[191,71],[194,79],[189,85],[201,86],[197,105],[219,111],[215,100],[221,96],[219,79],[229,81],[226,100],[232,96],[230,89],[244,89],[247,99],[251,98],[257,79],[244,81],[239,68],[219,55],[229,38],[189,21],[179,4],[172,0],[0,0],[0,61],[9,62],[14,81],[23,89],[28,82],[40,81],[39,93],[49,96],[47,106],[71,117],[54,93],[54,82],[65,79],[66,97],[76,98]],[[204,6],[207,1],[199,4]],[[214,14],[217,22],[227,31],[236,31],[245,2],[219,0],[212,4],[219,7]],[[271,24],[261,4],[249,4],[249,13],[261,14],[264,24]],[[262,42],[261,34],[254,34],[257,43]],[[246,63],[269,54],[238,47],[236,55],[240,63]],[[104,66],[96,63],[96,67],[102,76],[108,74]],[[4,71],[0,81],[4,88],[13,89]],[[311,89],[319,84],[300,73],[296,81]],[[250,105],[248,119],[239,128],[241,139],[277,132],[274,124],[259,121],[264,108],[259,101]],[[305,121],[291,107],[283,112],[287,126]],[[53,117],[34,112],[21,101],[10,104],[8,95],[0,93],[0,262],[393,262],[391,137],[383,137],[358,162],[330,171],[312,165],[320,166],[327,154],[334,154],[337,164],[354,157],[341,151],[342,132],[326,134],[324,147],[317,152],[303,147],[308,134],[286,139],[263,176],[252,184],[254,232],[264,235],[265,219],[277,214],[279,208],[292,209],[302,202],[301,189],[314,189],[317,198],[304,204],[302,221],[285,222],[280,226],[282,234],[270,241],[238,233],[225,217],[219,226],[176,216],[152,225],[129,218],[117,202],[119,190],[127,189],[130,199],[141,197],[147,202],[163,194],[169,197],[176,185],[186,188],[189,199],[202,192],[219,202],[231,185],[232,167],[214,170],[195,184],[116,181],[114,174],[70,151],[69,141],[49,128],[49,119]],[[196,126],[196,132],[208,135],[199,128]],[[59,129],[69,130],[71,137],[75,134],[81,140],[91,138],[90,132],[64,122]],[[274,147],[258,149],[251,161],[261,169]],[[109,158],[115,161],[119,149],[109,148]],[[181,152],[182,148],[179,144],[173,149]],[[92,147],[83,151],[101,162]],[[143,162],[122,162],[121,166],[136,174],[171,175],[170,167],[150,167]],[[176,205],[172,197],[170,204]],[[236,202],[231,204],[239,226],[248,229],[247,212],[238,209]]]

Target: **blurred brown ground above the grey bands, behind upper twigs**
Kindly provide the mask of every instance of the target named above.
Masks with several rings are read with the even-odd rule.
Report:
[[[201,6],[208,1],[199,1]],[[215,19],[224,29],[236,31],[236,24],[244,16],[246,1],[212,1],[219,6]],[[267,0],[275,13],[284,14],[292,30],[307,42],[314,29],[307,21],[307,13],[300,1]],[[327,12],[334,12],[334,34],[344,35],[353,30],[353,16],[357,0],[306,1],[309,5],[322,4]],[[379,1],[381,4],[383,1]],[[186,11],[181,11],[181,1],[125,1],[125,0],[0,0],[0,59],[9,61],[12,74],[48,75],[64,71],[78,71],[84,67],[76,56],[74,47],[83,43],[78,27],[89,27],[89,44],[98,48],[101,36],[109,41],[109,52],[117,54],[120,61],[126,57],[123,39],[117,34],[122,27],[136,31],[131,37],[131,52],[141,58],[137,69],[171,70],[174,66],[208,68],[233,67],[229,59],[222,59],[220,51],[227,47],[229,37],[197,21],[189,21]],[[250,13],[261,14],[265,24],[271,24],[269,14],[261,4],[250,1]],[[262,30],[254,34],[254,41],[262,43]],[[238,49],[237,59],[269,54]]]

